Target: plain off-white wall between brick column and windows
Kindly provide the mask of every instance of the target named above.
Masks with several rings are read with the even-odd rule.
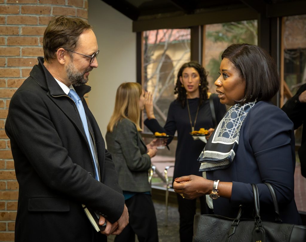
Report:
[[[88,102],[105,137],[118,86],[136,82],[136,33],[132,32],[132,20],[101,0],[88,1],[88,22],[100,50],[99,66],[89,75]]]

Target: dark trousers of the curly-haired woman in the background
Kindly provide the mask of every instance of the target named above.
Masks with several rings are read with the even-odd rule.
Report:
[[[191,242],[193,236],[193,219],[196,214],[196,199],[189,200],[177,194],[178,212],[180,214],[180,240]],[[207,214],[205,196],[200,197],[201,214]]]

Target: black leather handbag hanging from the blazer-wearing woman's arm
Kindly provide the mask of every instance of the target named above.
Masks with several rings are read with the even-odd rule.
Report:
[[[306,227],[282,224],[276,193],[270,183],[265,183],[272,195],[275,209],[275,223],[261,221],[259,216],[259,195],[256,184],[254,193],[254,219],[240,219],[242,205],[236,218],[219,215],[195,215],[193,242],[305,242]]]

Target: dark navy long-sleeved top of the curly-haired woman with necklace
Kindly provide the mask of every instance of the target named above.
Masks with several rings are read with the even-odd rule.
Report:
[[[199,98],[187,99],[190,108],[192,124],[196,117],[196,110],[199,104]],[[215,114],[219,123],[226,112],[226,106],[221,104],[218,95],[213,95],[215,106]],[[168,135],[174,135],[177,131],[177,149],[175,153],[174,178],[186,175],[202,176],[199,172],[200,163],[197,161],[201,154],[205,143],[201,140],[193,140],[189,134],[191,125],[188,115],[187,104],[182,108],[181,103],[177,100],[171,102],[167,121],[164,127],[161,127],[156,119],[146,119],[144,124],[154,132],[165,132]],[[195,130],[200,128],[214,128],[209,100],[202,103],[199,108],[198,117],[196,119]],[[171,140],[168,141],[170,143]]]

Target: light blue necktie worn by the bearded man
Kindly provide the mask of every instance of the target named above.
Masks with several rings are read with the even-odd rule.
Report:
[[[79,97],[79,95],[77,95],[77,93],[73,90],[70,89],[68,96],[72,98],[72,100],[76,103],[76,107],[79,110],[79,114],[80,114],[80,118],[82,120],[82,124],[83,124],[83,128],[87,137],[87,141],[90,147],[90,151],[91,151],[91,155],[92,155],[92,159],[95,165],[95,173],[96,173],[96,179],[99,181],[99,173],[98,173],[98,168],[97,165],[95,163],[95,156],[94,156],[94,152],[92,150],[91,147],[91,142],[90,142],[90,136],[89,136],[89,131],[88,131],[88,125],[87,125],[87,119],[86,119],[86,114],[85,114],[85,110],[82,104],[82,101]]]

